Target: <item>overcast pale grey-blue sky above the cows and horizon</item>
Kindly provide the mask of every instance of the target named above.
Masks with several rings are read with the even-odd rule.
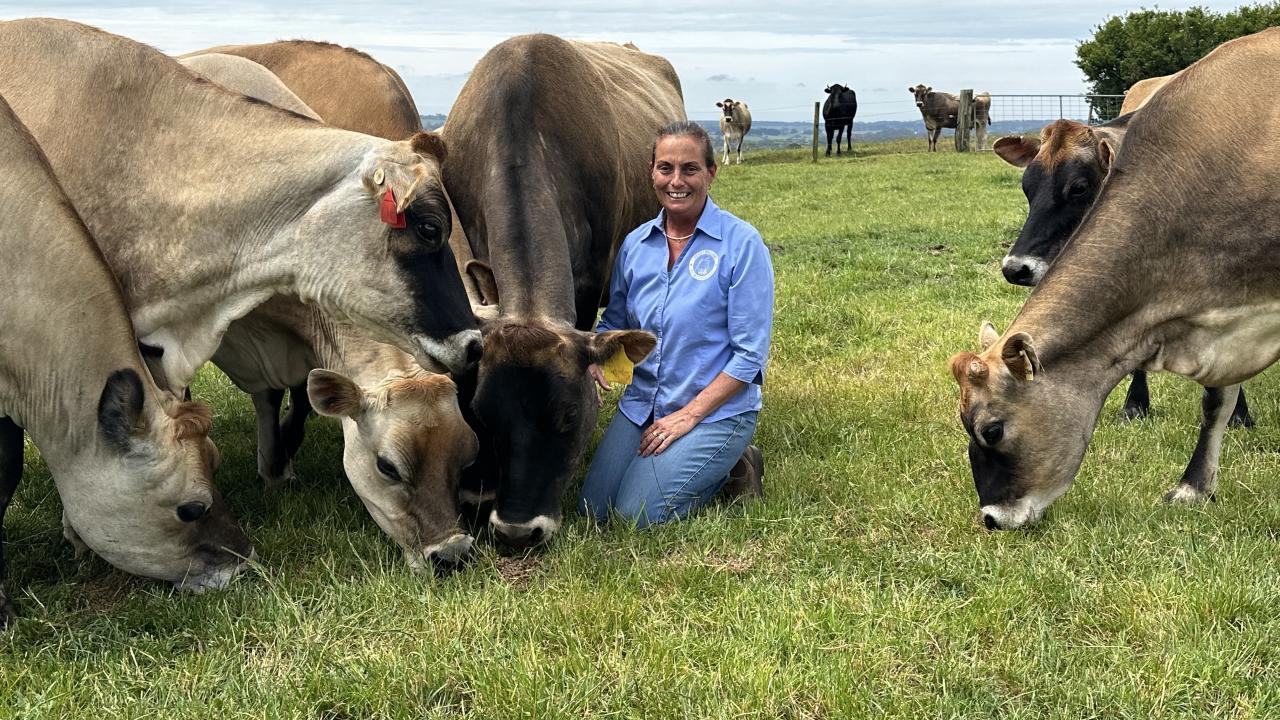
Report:
[[[1240,3],[1160,8],[1190,5],[1222,12]],[[714,118],[716,101],[735,97],[749,102],[758,120],[808,120],[823,87],[840,82],[858,91],[858,119],[877,120],[918,117],[906,88],[920,82],[952,92],[1083,92],[1075,45],[1108,17],[1140,6],[1139,0],[0,0],[0,18],[68,18],[172,54],[285,38],[338,42],[394,67],[424,114],[447,113],[480,56],[512,35],[631,41],[676,67],[691,118]]]

